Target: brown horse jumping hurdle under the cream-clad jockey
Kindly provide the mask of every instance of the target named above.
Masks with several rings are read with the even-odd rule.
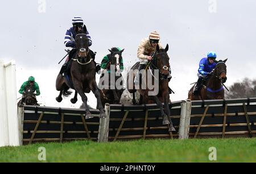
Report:
[[[146,84],[146,89],[136,88],[134,85],[134,78],[137,74],[139,62],[131,67],[129,74],[127,74],[127,89],[130,93],[133,93],[133,100],[135,98],[135,92],[139,91],[141,94],[140,103],[156,103],[159,106],[161,115],[163,118],[163,125],[169,126],[169,131],[175,131],[174,125],[171,121],[171,111],[169,108],[169,103],[171,102],[169,92],[168,92],[168,74],[170,69],[169,56],[167,55],[168,44],[166,48],[159,49],[156,46],[156,52],[152,55],[152,61],[148,64],[149,69],[146,70],[143,76],[144,84]],[[151,69],[151,72],[150,72]],[[137,71],[135,71],[137,70]],[[150,73],[152,73],[150,75]],[[156,77],[155,77],[156,76]],[[159,77],[159,78],[157,78]],[[149,89],[150,81],[152,85],[158,88],[158,92],[155,95],[149,95],[149,92],[154,91],[156,88]],[[142,85],[143,86],[143,85]],[[162,104],[164,103],[164,105]],[[163,108],[164,107],[164,108]]]

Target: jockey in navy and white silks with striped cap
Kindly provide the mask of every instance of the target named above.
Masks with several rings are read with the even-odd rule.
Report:
[[[82,20],[82,18],[80,16],[75,16],[72,19],[72,25],[73,25],[73,27],[69,28],[65,34],[64,45],[68,49],[69,56],[68,56],[68,59],[66,60],[65,64],[61,67],[60,74],[63,74],[65,71],[67,71],[69,60],[72,59],[73,54],[75,53],[72,50],[73,50],[73,48],[76,48],[76,42],[75,42],[76,34],[77,34],[77,32],[81,31],[82,28],[85,27],[84,20]],[[92,45],[92,39],[90,38],[90,34],[89,34],[88,30],[86,30],[86,36],[89,39],[88,44],[90,47],[90,45]],[[89,53],[94,60],[95,53],[92,50],[90,50]]]

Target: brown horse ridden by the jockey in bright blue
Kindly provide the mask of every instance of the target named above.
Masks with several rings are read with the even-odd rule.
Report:
[[[188,92],[188,99],[190,100],[214,100],[224,99],[223,83],[226,82],[226,61],[214,61],[217,63],[212,72],[209,73],[207,80],[204,81],[203,88],[200,90],[200,95],[193,95],[193,88]]]

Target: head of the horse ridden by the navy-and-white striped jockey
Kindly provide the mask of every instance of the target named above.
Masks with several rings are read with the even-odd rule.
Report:
[[[86,36],[85,26],[76,35],[75,42],[77,48],[77,56],[81,58],[87,57],[89,55],[89,39]]]

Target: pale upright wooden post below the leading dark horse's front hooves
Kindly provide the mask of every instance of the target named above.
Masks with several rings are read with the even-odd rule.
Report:
[[[98,127],[98,142],[108,142],[109,137],[109,117],[110,106],[109,103],[105,104],[106,118],[100,118],[100,126]]]

